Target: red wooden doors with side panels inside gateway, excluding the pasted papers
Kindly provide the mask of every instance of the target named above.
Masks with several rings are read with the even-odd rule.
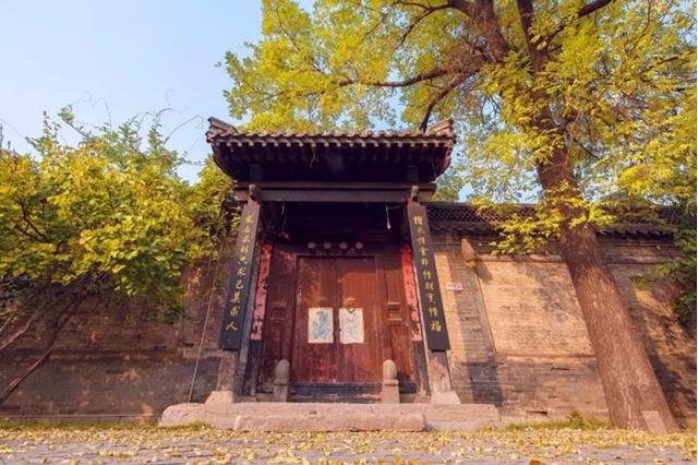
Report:
[[[274,367],[278,360],[287,359],[296,402],[375,402],[383,360],[388,358],[397,365],[400,391],[414,392],[421,375],[414,372],[410,315],[397,250],[360,257],[303,257],[299,249],[274,249],[257,378],[260,392],[272,391]],[[309,343],[309,309],[314,307],[332,308],[332,343]],[[342,307],[361,309],[363,343],[341,344]]]

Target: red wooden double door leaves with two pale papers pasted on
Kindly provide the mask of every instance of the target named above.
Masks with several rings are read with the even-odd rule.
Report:
[[[382,379],[375,259],[299,258],[291,371],[294,383]]]

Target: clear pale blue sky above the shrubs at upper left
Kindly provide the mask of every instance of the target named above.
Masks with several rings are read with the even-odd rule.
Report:
[[[261,21],[254,0],[1,0],[5,144],[28,151],[23,138],[40,133],[43,111],[68,104],[93,124],[172,107],[166,131],[194,120],[170,147],[201,162],[208,154],[205,119],[229,119],[222,91],[230,80],[214,64],[257,40]],[[185,166],[181,175],[194,180],[198,169]]]

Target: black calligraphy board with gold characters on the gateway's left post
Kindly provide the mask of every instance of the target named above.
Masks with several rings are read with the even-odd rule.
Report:
[[[242,343],[242,325],[251,294],[252,260],[258,222],[260,204],[250,200],[242,208],[240,216],[233,265],[228,281],[228,296],[219,341],[220,348],[226,350],[237,350]]]

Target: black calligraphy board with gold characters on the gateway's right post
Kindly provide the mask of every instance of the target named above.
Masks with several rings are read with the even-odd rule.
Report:
[[[426,208],[417,202],[409,202],[407,215],[410,222],[414,281],[419,289],[426,347],[430,350],[448,350],[450,349],[448,330],[446,330],[444,305],[436,276]]]

